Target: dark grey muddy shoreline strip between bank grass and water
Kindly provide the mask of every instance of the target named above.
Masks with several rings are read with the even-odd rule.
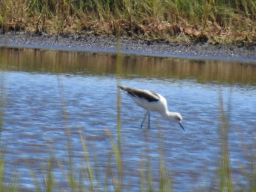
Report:
[[[0,46],[28,47],[42,49],[60,49],[74,51],[116,52],[117,42],[113,37],[38,35],[32,33],[8,32],[0,34]],[[256,63],[256,45],[210,45],[196,43],[180,45],[166,42],[148,42],[139,39],[121,38],[121,50],[124,53],[185,58],[230,59]]]

